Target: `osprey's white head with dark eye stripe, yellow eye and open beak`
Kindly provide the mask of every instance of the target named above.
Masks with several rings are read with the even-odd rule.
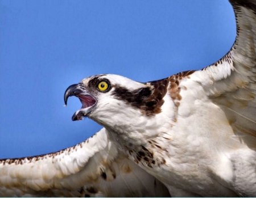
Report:
[[[94,75],[71,85],[65,91],[64,101],[76,96],[82,103],[72,120],[90,117],[101,125],[112,125],[112,120],[129,120],[136,116],[154,116],[161,112],[167,92],[167,79],[148,83],[113,75]]]

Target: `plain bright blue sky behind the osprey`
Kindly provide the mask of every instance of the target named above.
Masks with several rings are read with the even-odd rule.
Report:
[[[58,151],[101,129],[72,121],[69,85],[94,74],[135,81],[201,69],[232,47],[227,0],[0,0],[0,158]]]

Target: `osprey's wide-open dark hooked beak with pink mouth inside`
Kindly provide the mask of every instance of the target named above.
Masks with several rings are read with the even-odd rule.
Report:
[[[92,111],[93,109],[92,107],[94,107],[95,104],[97,103],[96,98],[90,95],[81,83],[71,85],[65,91],[65,94],[64,94],[65,105],[67,105],[69,96],[76,96],[77,98],[80,99],[82,103],[82,107],[79,110],[77,110],[72,116],[73,121],[82,120],[82,117],[88,115],[88,113]]]

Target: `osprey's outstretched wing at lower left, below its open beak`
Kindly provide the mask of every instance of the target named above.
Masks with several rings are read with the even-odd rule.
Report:
[[[123,155],[105,128],[57,153],[0,160],[0,196],[155,197],[167,188]]]

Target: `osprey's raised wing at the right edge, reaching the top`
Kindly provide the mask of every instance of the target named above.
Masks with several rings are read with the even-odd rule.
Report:
[[[207,68],[191,72],[189,78],[225,112],[237,141],[256,149],[256,1],[230,3],[237,24],[232,49]]]

